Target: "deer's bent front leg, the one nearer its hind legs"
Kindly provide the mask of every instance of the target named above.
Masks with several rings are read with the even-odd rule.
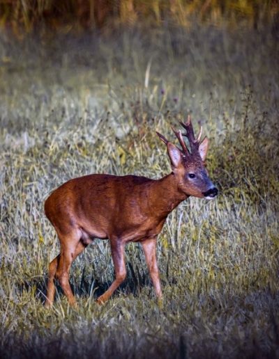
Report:
[[[98,304],[105,303],[113,294],[115,289],[121,285],[126,278],[126,266],[124,260],[124,244],[119,239],[111,239],[110,246],[112,248],[112,260],[114,262],[115,280],[109,289],[97,299]]]

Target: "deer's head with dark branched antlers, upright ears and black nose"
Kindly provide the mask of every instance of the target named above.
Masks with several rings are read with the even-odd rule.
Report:
[[[176,178],[179,191],[188,196],[212,199],[217,196],[218,189],[209,179],[208,172],[204,166],[206,153],[209,148],[209,140],[205,137],[200,141],[202,127],[199,135],[195,138],[190,115],[186,123],[180,123],[186,129],[186,134],[181,134],[180,130],[172,130],[179,139],[182,147],[181,150],[157,132],[163,143],[167,145],[167,152],[172,163],[172,172]],[[183,136],[188,138],[190,148],[186,146]]]

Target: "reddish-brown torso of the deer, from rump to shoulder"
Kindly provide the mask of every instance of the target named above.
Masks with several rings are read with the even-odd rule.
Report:
[[[89,237],[107,238],[148,222],[153,179],[87,175],[62,184],[45,201],[45,214],[59,232],[82,228]]]

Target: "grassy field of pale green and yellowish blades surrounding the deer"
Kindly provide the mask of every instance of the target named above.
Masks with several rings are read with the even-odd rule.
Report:
[[[154,26],[102,36],[0,37],[1,358],[279,358],[278,38],[269,25]],[[156,130],[191,113],[210,138],[220,195],[190,198],[158,239],[158,305],[140,245],[114,278],[96,241],[73,264],[78,308],[58,286],[43,308],[59,244],[43,202],[89,173],[159,178]]]

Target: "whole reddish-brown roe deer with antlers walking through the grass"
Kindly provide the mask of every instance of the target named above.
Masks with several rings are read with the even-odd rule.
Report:
[[[76,305],[70,288],[70,266],[94,239],[108,239],[115,279],[97,303],[105,303],[126,278],[125,246],[140,242],[158,300],[163,301],[156,260],[156,241],[170,212],[190,196],[213,199],[218,189],[205,168],[209,140],[202,127],[195,138],[190,115],[180,122],[186,129],[174,134],[181,148],[156,131],[167,146],[172,172],[160,179],[136,175],[92,174],[70,179],[45,200],[45,215],[60,241],[61,251],[50,262],[45,307],[54,302],[55,279],[70,305]],[[188,143],[183,139],[186,136]]]

